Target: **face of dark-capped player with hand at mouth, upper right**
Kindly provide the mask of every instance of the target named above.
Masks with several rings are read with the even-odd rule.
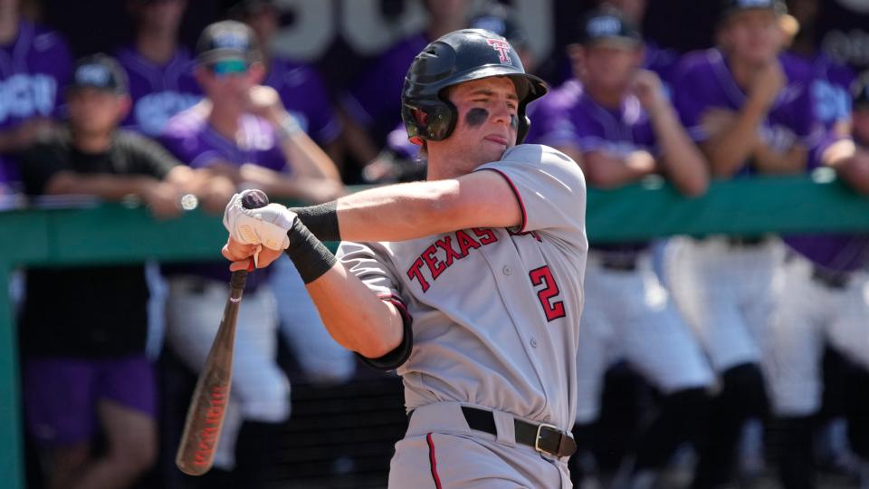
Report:
[[[778,14],[765,9],[733,14],[723,27],[721,43],[731,56],[743,62],[770,62],[784,43]]]

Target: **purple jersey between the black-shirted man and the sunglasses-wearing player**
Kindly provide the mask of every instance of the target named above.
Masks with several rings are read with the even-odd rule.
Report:
[[[121,49],[117,56],[129,77],[133,100],[132,110],[122,122],[127,129],[157,137],[172,116],[202,99],[186,49],[179,48],[165,64],[149,61],[132,46]]]

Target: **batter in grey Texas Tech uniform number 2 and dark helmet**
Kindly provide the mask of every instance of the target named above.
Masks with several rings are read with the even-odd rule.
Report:
[[[516,145],[546,91],[500,36],[446,34],[401,96],[425,182],[226,208],[232,268],[286,249],[332,336],[404,379],[390,487],[570,486],[585,182],[563,153]],[[336,258],[318,238],[339,237]]]

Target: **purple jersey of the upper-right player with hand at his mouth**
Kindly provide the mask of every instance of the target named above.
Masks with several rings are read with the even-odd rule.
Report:
[[[772,149],[788,149],[799,141],[813,155],[819,154],[825,130],[814,115],[810,91],[812,68],[794,57],[780,56],[779,62],[788,83],[761,123],[761,137]],[[707,110],[737,111],[748,100],[733,79],[723,53],[714,48],[686,54],[673,72],[672,86],[673,104],[688,134],[696,141],[708,139],[702,128]],[[739,176],[751,173],[746,166]]]

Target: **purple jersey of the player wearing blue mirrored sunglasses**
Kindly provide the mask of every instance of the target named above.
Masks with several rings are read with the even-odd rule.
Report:
[[[291,172],[272,124],[253,114],[242,116],[238,139],[233,141],[217,133],[208,123],[204,111],[193,107],[170,119],[159,141],[192,168],[206,168],[218,163],[237,166],[253,163],[275,171]],[[196,274],[224,283],[229,281],[229,267],[225,262],[169,265],[163,270],[167,274]],[[248,290],[265,283],[268,270],[248,275]]]

